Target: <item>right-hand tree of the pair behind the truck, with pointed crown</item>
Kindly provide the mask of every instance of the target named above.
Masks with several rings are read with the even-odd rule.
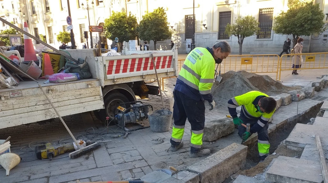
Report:
[[[147,14],[142,16],[138,26],[139,37],[142,40],[153,40],[156,50],[157,41],[170,39],[172,36],[168,25],[164,9],[154,9],[153,12],[147,12]]]

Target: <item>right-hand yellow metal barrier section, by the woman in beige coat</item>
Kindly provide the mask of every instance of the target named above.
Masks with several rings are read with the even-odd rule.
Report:
[[[328,52],[322,53],[301,53],[301,54],[285,54],[282,55],[280,58],[280,69],[279,69],[279,81],[281,76],[281,71],[284,70],[294,70],[295,68],[292,67],[293,65],[293,58],[301,55],[303,59],[303,63],[301,68],[297,68],[297,70],[304,70],[304,69],[325,69],[328,68]]]

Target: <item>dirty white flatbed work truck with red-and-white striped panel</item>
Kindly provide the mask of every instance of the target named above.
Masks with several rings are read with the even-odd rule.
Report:
[[[158,87],[145,84],[155,79],[151,53],[158,77],[177,76],[177,50],[128,51],[120,56],[97,57],[98,49],[67,50],[74,59],[87,57],[91,79],[65,83],[38,82],[46,90],[61,116],[94,111],[105,121],[114,118],[117,106],[148,95],[158,95]],[[0,89],[0,129],[57,118],[35,81],[21,81],[15,88]],[[129,105],[129,104],[127,104]],[[129,106],[122,106],[129,107]]]

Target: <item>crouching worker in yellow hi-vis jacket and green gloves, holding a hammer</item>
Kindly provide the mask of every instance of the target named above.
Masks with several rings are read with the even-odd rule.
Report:
[[[236,107],[241,105],[240,116]],[[261,160],[269,155],[268,122],[276,111],[277,102],[274,98],[259,91],[250,91],[236,96],[228,101],[228,110],[234,124],[238,125],[238,135],[245,142],[248,137],[257,132],[257,147]],[[251,124],[249,132],[240,123]]]

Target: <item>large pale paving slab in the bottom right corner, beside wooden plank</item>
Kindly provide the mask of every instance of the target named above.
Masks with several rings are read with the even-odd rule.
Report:
[[[277,183],[321,183],[323,181],[321,166],[318,162],[285,156],[278,156],[265,177],[266,180]]]

